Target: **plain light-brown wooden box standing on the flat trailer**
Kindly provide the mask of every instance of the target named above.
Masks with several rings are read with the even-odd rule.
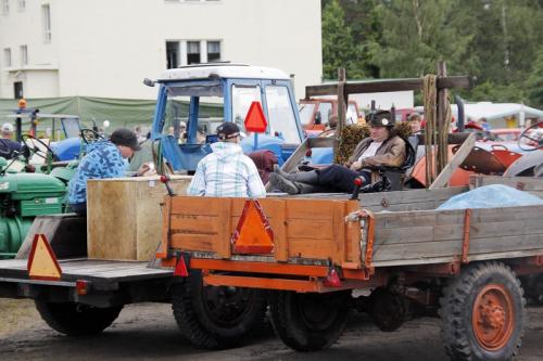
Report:
[[[191,177],[173,176],[177,194],[186,194]],[[166,188],[159,177],[89,180],[87,186],[89,258],[149,260],[161,241]]]

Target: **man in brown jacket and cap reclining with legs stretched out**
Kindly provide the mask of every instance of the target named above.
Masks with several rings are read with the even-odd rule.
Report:
[[[390,112],[380,111],[368,117],[371,126],[369,138],[356,145],[346,166],[331,165],[299,173],[286,173],[278,168],[272,173],[272,185],[289,194],[316,192],[348,192],[354,190],[354,180],[363,179],[363,185],[371,184],[371,168],[400,167],[406,157],[405,141],[395,134]]]

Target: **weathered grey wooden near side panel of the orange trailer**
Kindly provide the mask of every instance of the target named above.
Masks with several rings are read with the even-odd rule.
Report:
[[[375,267],[543,254],[543,206],[375,215]],[[467,220],[468,219],[468,220]],[[466,247],[464,249],[464,247]]]

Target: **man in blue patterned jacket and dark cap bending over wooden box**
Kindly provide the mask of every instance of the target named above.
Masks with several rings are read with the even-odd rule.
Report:
[[[76,214],[87,214],[87,180],[124,177],[125,163],[141,147],[136,133],[119,128],[111,133],[110,140],[87,145],[87,155],[81,159],[68,185],[70,208]]]

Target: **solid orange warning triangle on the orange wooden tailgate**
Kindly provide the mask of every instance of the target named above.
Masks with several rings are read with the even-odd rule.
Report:
[[[269,254],[274,250],[274,232],[258,201],[247,201],[232,234],[233,253]]]

